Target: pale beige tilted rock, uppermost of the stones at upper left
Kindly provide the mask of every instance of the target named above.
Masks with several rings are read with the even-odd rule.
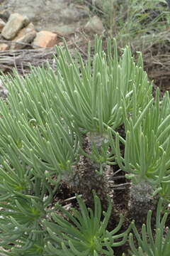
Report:
[[[1,31],[2,36],[7,40],[13,39],[23,26],[28,25],[28,18],[21,14],[11,14],[8,22]]]

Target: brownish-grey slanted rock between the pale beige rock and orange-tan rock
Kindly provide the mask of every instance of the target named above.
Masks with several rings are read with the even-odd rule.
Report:
[[[31,43],[36,36],[36,31],[33,23],[29,23],[28,26],[22,28],[18,32],[17,36],[13,39],[11,44],[11,50],[13,49],[23,49],[26,45],[25,43]]]

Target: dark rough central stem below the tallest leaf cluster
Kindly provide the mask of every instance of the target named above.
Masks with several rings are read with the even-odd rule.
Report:
[[[96,134],[95,134],[96,135]],[[103,139],[106,139],[105,137]],[[95,142],[98,149],[100,149],[103,139],[95,137],[92,142]],[[91,137],[87,136],[84,139],[84,151],[87,154],[91,154]],[[103,172],[99,173],[100,164],[95,163],[87,156],[80,156],[79,164],[74,166],[74,175],[69,179],[69,186],[74,188],[74,191],[81,194],[86,200],[86,203],[93,205],[94,198],[92,190],[96,191],[96,194],[101,199],[103,210],[108,206],[107,194],[113,196],[113,184],[108,182],[111,180],[113,174],[111,173],[111,166],[108,164],[102,164]]]

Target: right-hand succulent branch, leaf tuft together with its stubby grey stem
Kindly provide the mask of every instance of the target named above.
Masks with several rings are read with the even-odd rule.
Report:
[[[143,222],[149,209],[154,210],[157,193],[163,193],[163,186],[170,181],[169,176],[169,95],[160,101],[159,90],[155,102],[151,100],[139,114],[125,113],[124,156],[120,152],[120,134],[116,135],[116,158],[125,177],[132,181],[129,208],[132,218]],[[137,117],[138,115],[138,117]],[[164,191],[165,192],[165,191]],[[165,195],[164,195],[165,196]]]

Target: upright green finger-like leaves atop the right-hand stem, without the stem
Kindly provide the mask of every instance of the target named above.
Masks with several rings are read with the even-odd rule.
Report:
[[[130,117],[125,115],[124,158],[120,154],[118,133],[114,145],[118,164],[128,173],[126,177],[135,183],[142,180],[151,183],[155,193],[162,191],[165,197],[169,197],[169,194],[168,191],[163,192],[163,188],[170,182],[169,100],[169,93],[166,93],[160,105],[157,90],[155,102],[151,100],[138,117],[135,108]]]

